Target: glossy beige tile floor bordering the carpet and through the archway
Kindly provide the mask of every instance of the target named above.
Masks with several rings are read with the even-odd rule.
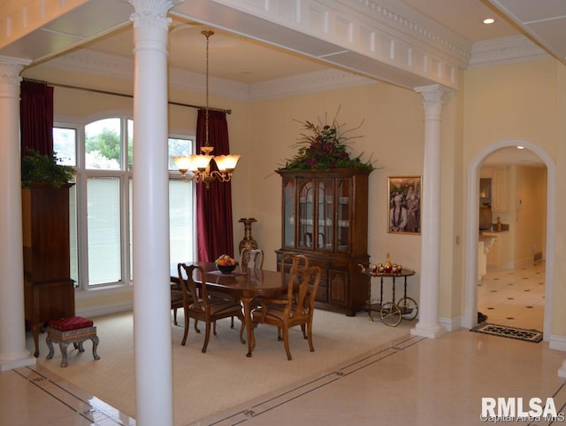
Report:
[[[488,274],[478,306],[488,321],[542,327],[544,266]],[[436,339],[403,337],[325,376],[312,377],[187,426],[438,424],[480,425],[483,397],[552,398],[566,412],[557,376],[565,352],[459,329]],[[515,422],[518,424],[517,422]],[[532,426],[560,424],[545,419]],[[135,424],[100,399],[41,366],[0,373],[2,426]],[[156,425],[158,426],[158,425]]]

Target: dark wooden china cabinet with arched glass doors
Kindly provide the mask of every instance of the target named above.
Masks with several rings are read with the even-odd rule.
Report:
[[[369,171],[278,170],[282,178],[281,248],[298,252],[322,269],[318,308],[353,316],[365,307]]]

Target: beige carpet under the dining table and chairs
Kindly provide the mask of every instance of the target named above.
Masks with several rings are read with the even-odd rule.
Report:
[[[132,313],[93,320],[100,338],[101,360],[93,360],[92,345],[88,341],[82,353],[69,347],[69,366],[60,368],[58,348],[54,358],[46,360],[45,335],[40,335],[41,352],[37,362],[135,418]],[[182,314],[179,320],[179,326],[172,324],[176,426],[196,422],[306,377],[332,371],[338,364],[408,335],[409,329],[415,326],[414,321],[402,321],[392,328],[379,318],[368,321],[367,314],[363,313],[347,317],[317,310],[315,352],[309,351],[301,330],[295,329],[289,337],[293,355],[293,360],[289,361],[282,342],[277,340],[277,329],[273,327],[264,325],[256,329],[256,350],[252,358],[247,358],[248,346],[241,345],[239,330],[230,329],[230,320],[218,321],[218,336],[210,337],[206,353],[201,352],[203,334],[195,334],[192,322],[187,345],[180,345]],[[239,325],[239,321],[236,323]],[[31,337],[27,339],[27,347],[33,350]]]

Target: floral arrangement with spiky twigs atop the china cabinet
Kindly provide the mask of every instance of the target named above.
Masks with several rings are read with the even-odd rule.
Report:
[[[336,112],[336,115],[338,115],[338,112]],[[283,170],[358,168],[371,171],[375,168],[371,161],[362,161],[362,154],[353,159],[348,152],[348,143],[353,139],[362,137],[349,135],[362,126],[363,120],[357,128],[350,128],[345,131],[342,131],[342,125],[338,123],[336,117],[331,124],[295,121],[302,124],[304,132],[298,142],[292,145],[298,147],[299,151],[293,158],[285,160],[285,166],[281,167]]]

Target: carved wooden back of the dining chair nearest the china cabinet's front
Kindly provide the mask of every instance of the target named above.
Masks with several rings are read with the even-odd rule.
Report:
[[[285,307],[289,321],[307,321],[312,315],[320,275],[320,267],[295,267],[289,272]]]

